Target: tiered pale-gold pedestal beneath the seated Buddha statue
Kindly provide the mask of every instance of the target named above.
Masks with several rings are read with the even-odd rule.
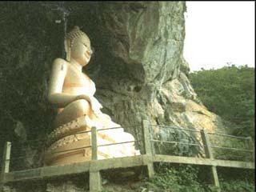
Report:
[[[90,127],[85,126],[85,121],[84,117],[83,119],[78,118],[58,128],[59,133],[55,130],[50,134],[51,139],[58,138],[58,140],[53,142],[44,154],[46,166],[57,166],[91,160],[91,132]],[[65,136],[61,138],[61,135]],[[97,138],[98,159],[121,158],[140,154],[139,150],[135,150],[134,137],[124,132],[121,127],[106,130],[99,127]],[[111,145],[119,142],[122,143]]]

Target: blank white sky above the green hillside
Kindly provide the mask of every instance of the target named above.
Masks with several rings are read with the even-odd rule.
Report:
[[[186,2],[184,58],[190,71],[255,66],[255,2]]]

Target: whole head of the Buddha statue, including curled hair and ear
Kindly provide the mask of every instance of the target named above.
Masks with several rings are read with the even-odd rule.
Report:
[[[74,26],[74,29],[66,34],[65,50],[68,62],[73,58],[82,66],[86,66],[93,53],[90,48],[90,39],[78,26]]]

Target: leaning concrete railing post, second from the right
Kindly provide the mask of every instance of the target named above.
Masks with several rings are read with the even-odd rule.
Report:
[[[211,160],[214,160],[214,154],[210,146],[210,138],[208,137],[206,130],[201,130],[200,132],[202,137],[202,143],[206,153],[206,158],[210,158]],[[220,185],[218,182],[218,172],[217,172],[216,166],[210,166],[210,175],[211,175],[211,182],[214,184],[214,186],[218,187],[218,191],[221,191]]]

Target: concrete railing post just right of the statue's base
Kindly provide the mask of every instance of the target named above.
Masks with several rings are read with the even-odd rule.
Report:
[[[149,178],[154,177],[154,164],[152,146],[150,142],[150,122],[142,120],[143,136],[144,136],[144,148],[146,152],[146,166],[148,170]]]

